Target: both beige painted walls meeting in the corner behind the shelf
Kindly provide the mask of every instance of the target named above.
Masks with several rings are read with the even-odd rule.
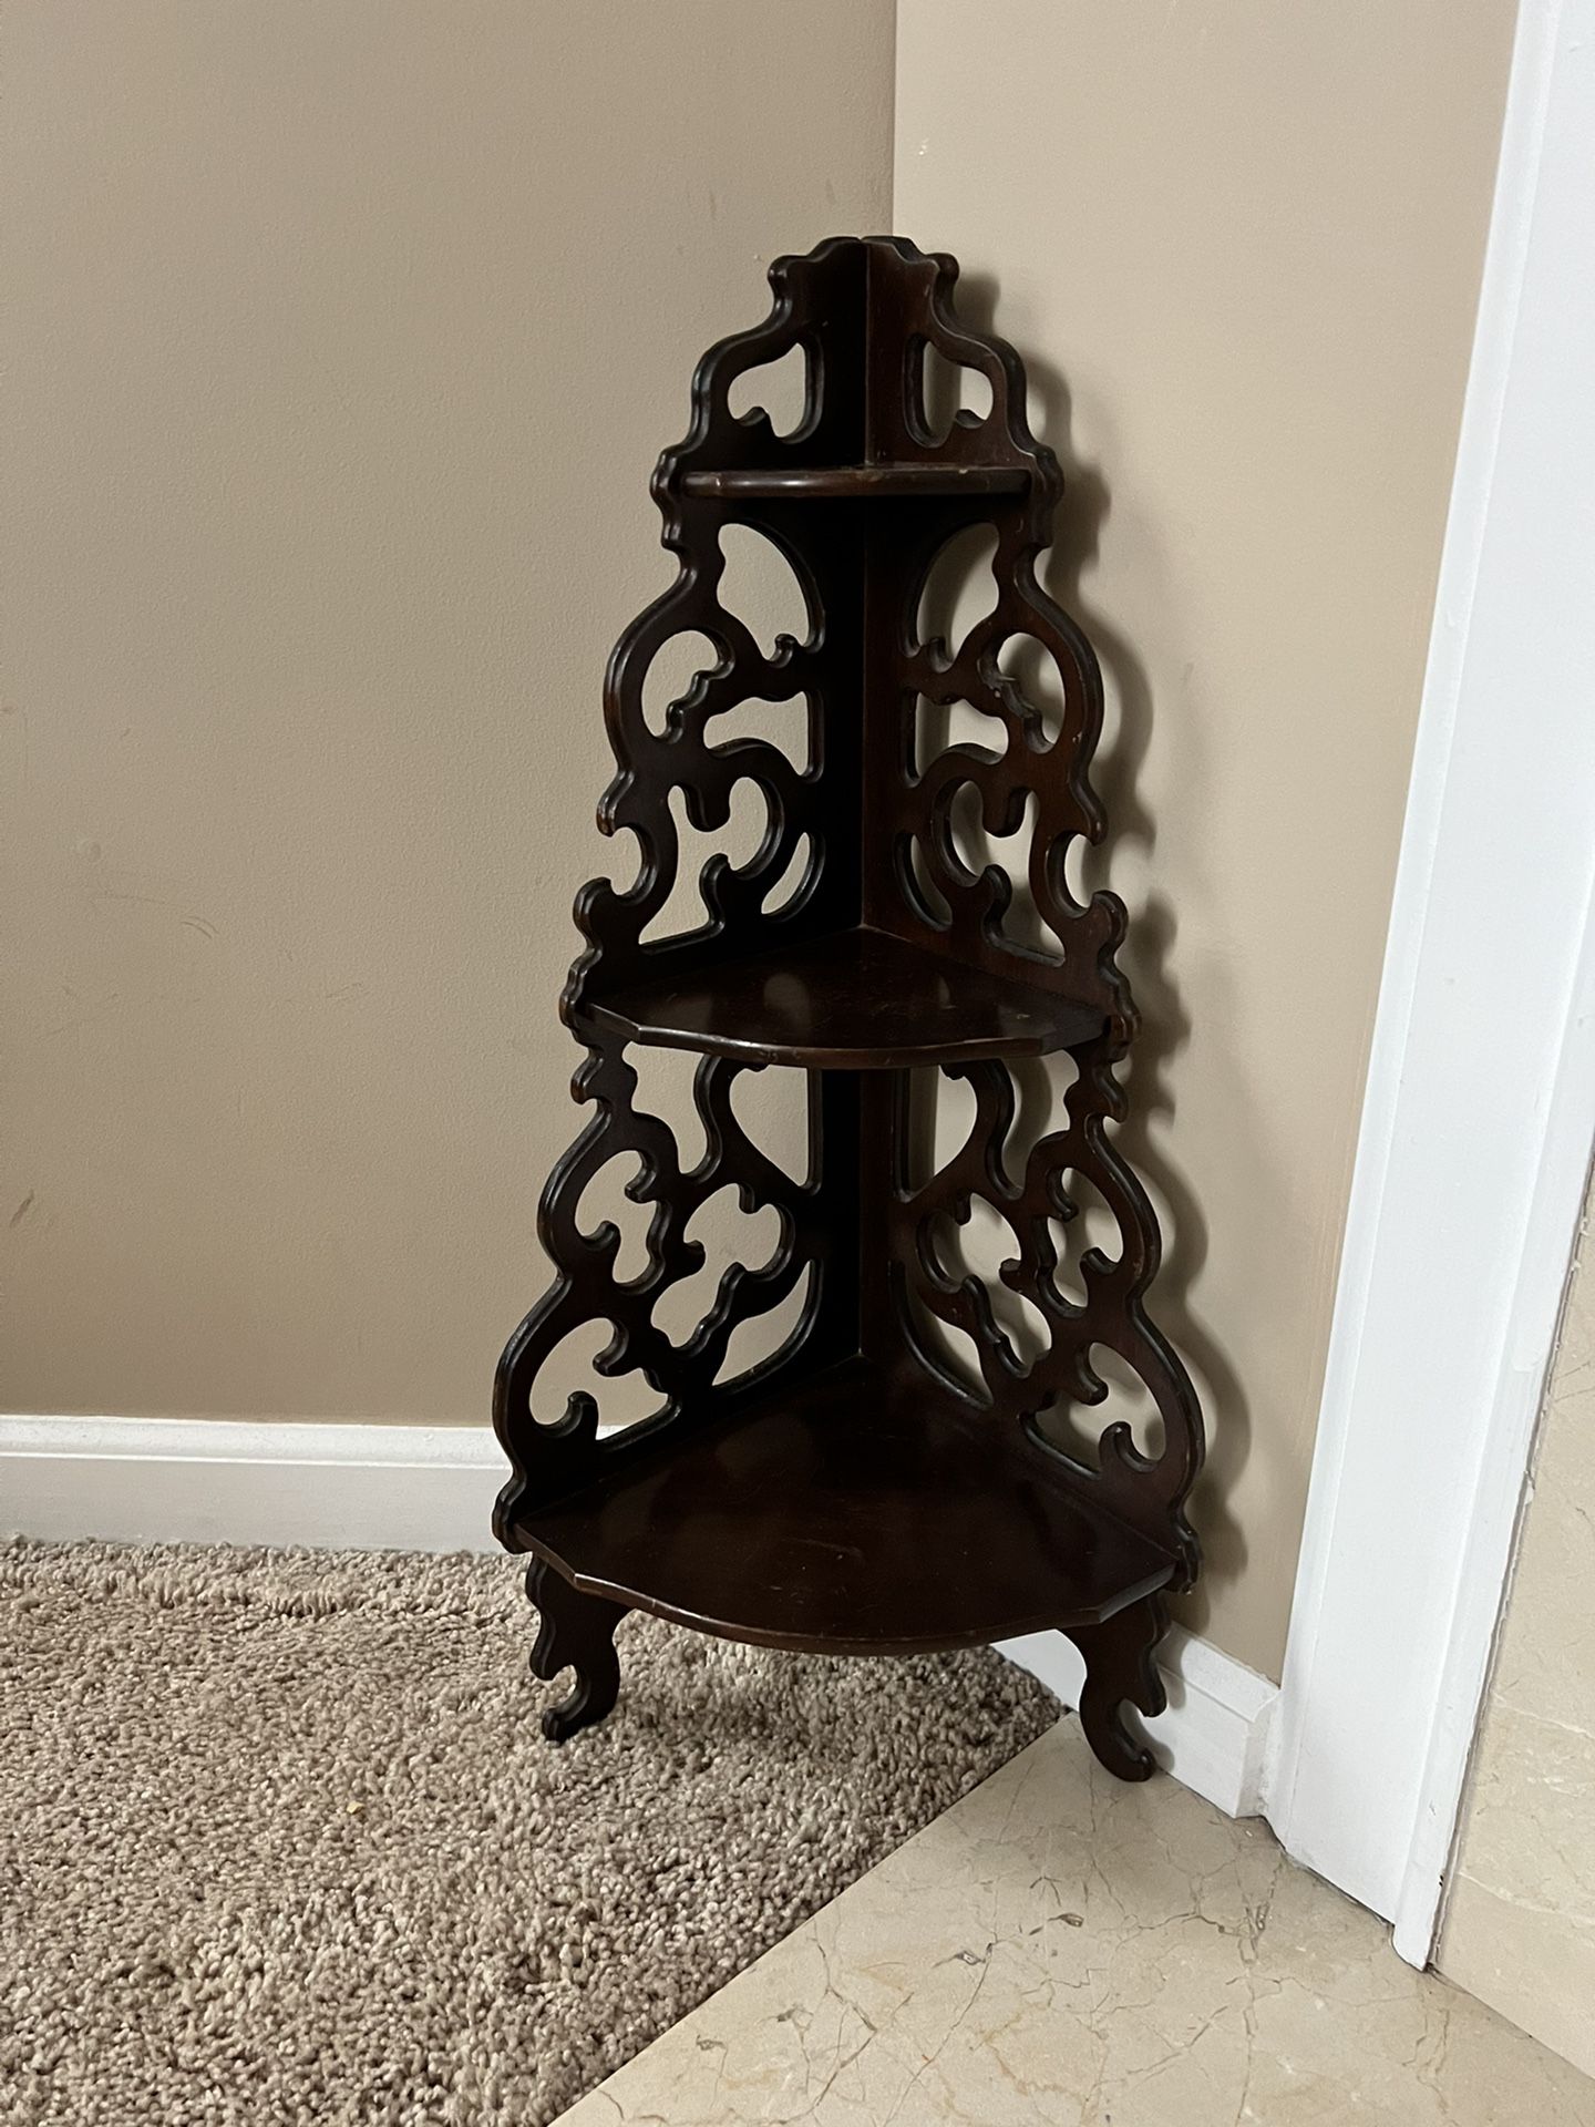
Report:
[[[649,468],[768,257],[895,221],[1089,468],[1131,1149],[1276,1672],[1510,17],[906,0],[893,215],[887,0],[13,9],[11,1408],[481,1417]]]

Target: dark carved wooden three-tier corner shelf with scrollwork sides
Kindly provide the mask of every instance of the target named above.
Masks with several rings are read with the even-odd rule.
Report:
[[[1159,1234],[1108,1127],[1123,1115],[1114,1068],[1136,1029],[1114,968],[1125,910],[1112,893],[1076,902],[1063,874],[1070,842],[1097,842],[1104,817],[1087,781],[1097,664],[1036,583],[1061,479],[1025,423],[1019,357],[957,321],[955,279],[955,259],[902,238],[842,236],[776,262],[774,311],[704,355],[687,440],[653,476],[681,570],[610,657],[619,772],[600,806],[606,834],[636,836],[642,866],[629,887],[593,881],[576,898],[587,949],[564,1019],[587,1051],[574,1093],[593,1117],[542,1195],[538,1229],[557,1274],[510,1338],[493,1402],[513,1466],[496,1527],[532,1555],[542,1617],[532,1665],[576,1672],[544,1716],[555,1740],[615,1704],[612,1631],[627,1608],[846,1655],[1059,1627],[1085,1655],[1093,1748],[1125,1778],[1151,1772],[1123,1704],[1148,1714],[1163,1704],[1153,1653],[1165,1595],[1197,1570],[1185,1500],[1202,1417],[1144,1310]],[[734,415],[727,393],[791,349],[804,355],[806,402],[778,436],[763,411]],[[936,432],[927,349],[985,379],[985,417],[961,411]],[[804,642],[780,636],[766,655],[721,606],[725,525],[753,527],[789,559],[808,602]],[[995,532],[997,598],[951,651],[919,640],[917,615],[936,555],[970,525]],[[683,632],[706,636],[719,661],[659,732],[642,683]],[[1023,638],[1051,661],[1061,727],[1000,664]],[[717,742],[715,719],[736,704],[795,698],[808,704],[806,766],[761,738]],[[944,744],[919,768],[921,702],[970,704],[989,742]],[[712,834],[742,781],[768,806],[761,847],[740,868],[725,855],[704,866],[700,927],[644,942],[676,883],[672,793]],[[991,836],[1019,834],[1034,808],[1023,878],[1053,951],[1006,934],[1008,874],[966,861],[953,804],[970,787]],[[768,912],[804,838],[802,883]],[[634,1102],[629,1044],[702,1057],[693,1098],[708,1151],[689,1170],[670,1127]],[[1010,1064],[1055,1051],[1074,1068],[1059,1127],[1010,1172]],[[808,1074],[804,1176],[761,1151],[732,1106],[736,1076],[766,1066]],[[910,1083],[936,1068],[966,1081],[974,1125],[923,1176]],[[615,1225],[578,1221],[615,1159],[636,1170],[627,1198],[651,1206],[649,1261],[632,1278],[617,1274]],[[774,1206],[780,1244],[757,1270],[732,1266],[695,1332],[672,1342],[655,1306],[702,1268],[687,1227],[727,1185],[744,1212]],[[1116,1249],[1082,1249],[1078,1291],[1065,1291],[1057,1234],[1091,1191]],[[940,1234],[976,1200],[1017,1236],[1000,1278],[1046,1325],[1038,1353],[1021,1355],[978,1276],[948,1268]],[[785,1344],[725,1378],[738,1323],[804,1280]],[[936,1321],[974,1342],[978,1380],[957,1376]],[[593,1323],[610,1332],[598,1374],[638,1370],[657,1412],[600,1436],[595,1400],[574,1393],[557,1423],[538,1423],[538,1368]],[[1127,1423],[1108,1425],[1093,1451],[1078,1429],[1061,1440],[1048,1425],[1048,1412],[1106,1400],[1093,1346],[1151,1391],[1157,1453],[1142,1453]]]

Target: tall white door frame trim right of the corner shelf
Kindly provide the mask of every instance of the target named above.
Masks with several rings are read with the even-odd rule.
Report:
[[[1412,1963],[1595,1140],[1593,168],[1595,0],[1523,0],[1267,1808]]]

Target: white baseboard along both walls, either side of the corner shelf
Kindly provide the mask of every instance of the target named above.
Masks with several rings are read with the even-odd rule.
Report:
[[[496,1551],[504,1472],[485,1425],[0,1417],[0,1534]],[[1002,1653],[1078,1704],[1085,1668],[1063,1634],[1004,1640]],[[1153,1751],[1229,1816],[1255,1816],[1278,1687],[1182,1631],[1163,1642],[1163,1668]]]

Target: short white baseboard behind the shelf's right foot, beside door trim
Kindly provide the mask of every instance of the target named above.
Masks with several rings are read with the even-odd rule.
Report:
[[[1061,1631],[1002,1640],[1000,1653],[1040,1676],[1065,1706],[1080,1704],[1085,1661]],[[1178,1625],[1159,1648],[1159,1668],[1168,1710],[1142,1721],[1159,1765],[1225,1816],[1261,1816],[1280,1687]]]

